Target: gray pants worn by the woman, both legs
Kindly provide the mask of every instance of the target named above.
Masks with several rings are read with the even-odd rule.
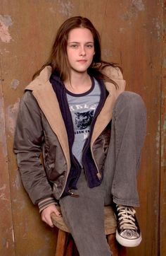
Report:
[[[89,188],[84,170],[79,197],[63,197],[60,206],[80,256],[110,256],[104,233],[103,207],[115,202],[139,206],[136,175],[146,135],[146,107],[141,97],[123,92],[113,109],[111,138],[100,186]]]

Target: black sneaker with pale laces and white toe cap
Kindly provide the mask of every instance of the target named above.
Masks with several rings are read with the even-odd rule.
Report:
[[[133,207],[115,204],[117,219],[116,239],[120,245],[134,247],[141,243],[141,231]]]

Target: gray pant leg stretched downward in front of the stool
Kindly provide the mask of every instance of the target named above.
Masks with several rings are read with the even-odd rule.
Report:
[[[84,171],[77,182],[79,197],[63,197],[60,208],[80,256],[110,256],[104,232],[103,185],[89,188]]]

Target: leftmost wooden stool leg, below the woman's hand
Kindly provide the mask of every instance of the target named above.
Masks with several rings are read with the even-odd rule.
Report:
[[[65,240],[67,233],[65,231],[58,230],[58,239],[56,243],[56,256],[63,256],[65,252]]]

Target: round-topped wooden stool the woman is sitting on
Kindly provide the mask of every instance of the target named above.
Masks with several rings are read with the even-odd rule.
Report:
[[[57,206],[57,208],[58,211],[60,211],[60,206]],[[56,256],[75,256],[75,253],[73,252],[74,241],[68,227],[63,221],[63,217],[58,217],[56,216],[56,214],[51,214],[51,218],[53,221],[53,225],[58,228]],[[113,209],[111,206],[104,207],[104,226],[108,245],[113,252],[113,256],[125,256],[125,248],[120,246],[115,238],[117,223],[113,215]]]

